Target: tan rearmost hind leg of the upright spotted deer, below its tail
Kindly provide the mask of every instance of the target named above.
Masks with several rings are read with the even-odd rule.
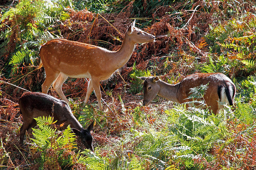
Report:
[[[54,82],[54,80],[57,78],[57,76],[59,75],[60,72],[56,72],[54,70],[46,70],[45,69],[45,80],[44,83],[42,85],[42,93],[47,94],[49,88],[51,87],[52,83]]]

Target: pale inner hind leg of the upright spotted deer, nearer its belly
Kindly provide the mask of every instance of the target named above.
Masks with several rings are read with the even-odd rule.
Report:
[[[56,80],[53,82],[52,86],[59,94],[60,98],[68,103],[68,99],[66,98],[61,89],[63,83],[67,80],[67,78],[68,76],[60,72]]]

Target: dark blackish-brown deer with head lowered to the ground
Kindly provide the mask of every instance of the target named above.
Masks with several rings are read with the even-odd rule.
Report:
[[[20,97],[19,104],[23,117],[23,124],[20,128],[20,144],[23,144],[26,130],[31,133],[31,128],[36,126],[35,117],[51,115],[53,116],[53,121],[57,121],[57,125],[64,123],[63,129],[70,125],[76,136],[81,138],[84,146],[93,151],[91,130],[93,129],[94,121],[87,129],[84,129],[72,114],[66,101],[40,92],[28,92]]]

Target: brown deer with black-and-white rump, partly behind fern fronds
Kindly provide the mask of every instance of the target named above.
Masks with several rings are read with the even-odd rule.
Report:
[[[220,102],[228,103],[229,106],[233,106],[236,94],[236,86],[222,73],[191,74],[175,85],[165,83],[158,77],[139,78],[145,80],[143,85],[143,106],[148,106],[156,95],[180,104],[191,101],[192,99],[187,99],[190,95],[190,88],[206,85],[209,82],[208,89],[204,94],[204,100],[216,115],[220,109],[223,108]],[[192,106],[191,104],[186,104],[186,107]]]

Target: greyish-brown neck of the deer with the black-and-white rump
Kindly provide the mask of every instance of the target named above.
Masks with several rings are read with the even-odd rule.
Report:
[[[177,95],[178,95],[178,89],[180,83],[176,85],[168,84],[162,80],[159,80],[157,84],[160,86],[160,90],[158,92],[158,95],[174,102],[179,103]]]

